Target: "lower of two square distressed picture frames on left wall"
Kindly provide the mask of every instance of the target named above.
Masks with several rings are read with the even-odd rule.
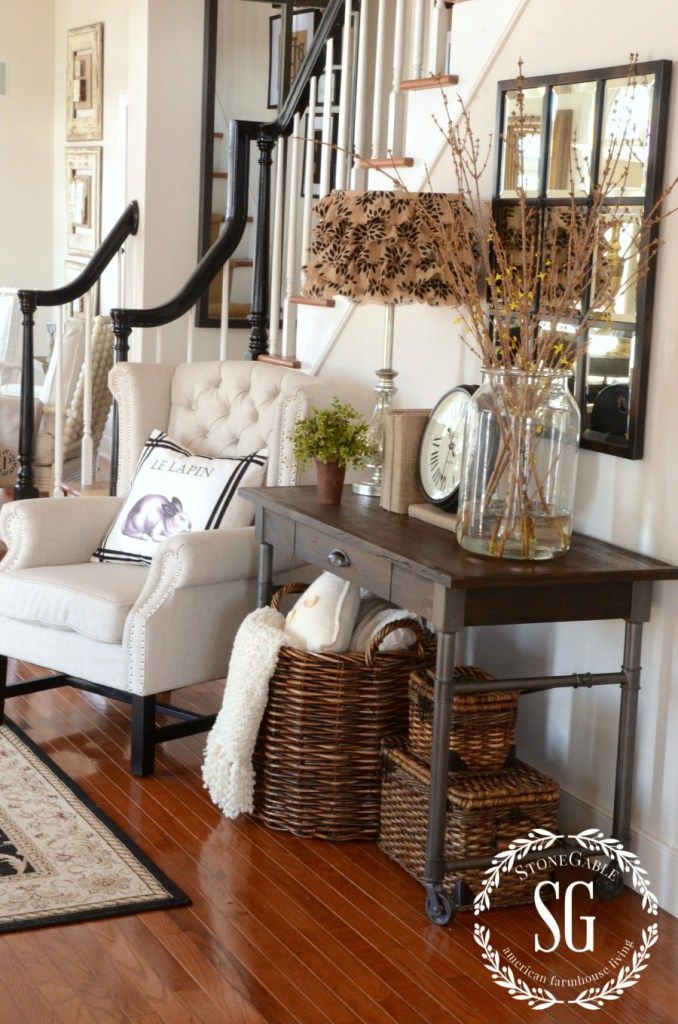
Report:
[[[93,256],[101,234],[101,150],[68,146],[66,151],[67,252]]]

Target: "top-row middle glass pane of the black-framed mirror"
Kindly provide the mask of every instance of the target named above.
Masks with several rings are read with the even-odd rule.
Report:
[[[554,85],[551,90],[547,195],[588,196],[595,124],[596,82]]]

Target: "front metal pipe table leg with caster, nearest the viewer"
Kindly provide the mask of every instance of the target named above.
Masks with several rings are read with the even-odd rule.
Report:
[[[426,844],[426,913],[434,925],[447,925],[455,905],[442,888],[444,879],[444,835],[450,764],[450,726],[455,688],[454,633],[438,633],[433,689],[433,741],[431,781],[428,797],[428,838]]]

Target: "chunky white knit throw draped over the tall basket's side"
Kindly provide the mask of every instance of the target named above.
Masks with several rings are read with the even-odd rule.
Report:
[[[285,616],[272,608],[252,611],[234,641],[221,711],[203,763],[205,787],[228,818],[253,809],[252,755],[283,646],[297,644],[285,633]]]

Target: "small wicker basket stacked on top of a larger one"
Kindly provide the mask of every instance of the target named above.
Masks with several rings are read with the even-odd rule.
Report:
[[[460,666],[457,679],[492,680],[482,669]],[[413,672],[410,679],[408,745],[412,754],[431,763],[433,733],[433,679],[431,671]],[[471,771],[501,771],[515,746],[518,693],[460,693],[452,706],[450,767]]]

